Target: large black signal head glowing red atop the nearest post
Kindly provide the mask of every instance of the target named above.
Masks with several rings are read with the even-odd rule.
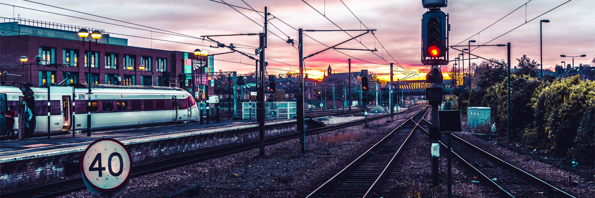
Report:
[[[446,65],[446,14],[427,11],[422,18],[421,62],[424,65]]]

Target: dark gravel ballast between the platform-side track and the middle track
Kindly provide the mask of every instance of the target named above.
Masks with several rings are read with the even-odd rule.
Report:
[[[405,121],[399,118],[308,136],[306,153],[293,139],[267,146],[266,156],[253,149],[133,178],[119,197],[163,197],[192,186],[177,197],[305,197]],[[92,194],[83,190],[62,197]]]

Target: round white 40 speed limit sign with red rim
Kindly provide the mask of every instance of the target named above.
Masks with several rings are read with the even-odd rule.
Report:
[[[96,196],[112,197],[128,186],[132,158],[118,140],[104,138],[89,144],[80,164],[85,186]]]

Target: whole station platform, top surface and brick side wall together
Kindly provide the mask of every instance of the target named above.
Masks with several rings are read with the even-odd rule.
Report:
[[[266,120],[265,137],[297,130],[295,119]],[[80,173],[84,150],[95,140],[108,137],[126,145],[133,164],[177,153],[215,149],[258,140],[256,120],[231,120],[153,125],[121,130],[33,137],[0,141],[0,187],[60,178]]]

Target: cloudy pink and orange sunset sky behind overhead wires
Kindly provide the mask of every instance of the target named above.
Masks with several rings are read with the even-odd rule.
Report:
[[[98,4],[93,4],[92,1],[76,0],[4,0],[0,4],[0,17],[21,17],[103,29],[112,37],[128,39],[130,46],[190,53],[197,48],[206,50],[209,54],[230,51],[227,48],[210,48],[209,46],[214,43],[195,37],[264,31],[261,27],[264,24],[264,18],[258,12],[237,7],[236,11],[220,2],[243,8],[252,7],[260,12],[264,12],[264,8],[267,7],[267,12],[270,13],[268,16],[270,33],[265,55],[270,59],[267,60],[269,74],[284,74],[298,70],[297,45],[289,44],[286,41],[293,39],[297,43],[296,29],[299,28],[304,30],[375,30],[374,34],[367,33],[337,46],[337,48],[350,49],[377,49],[375,52],[330,49],[305,59],[305,67],[311,78],[324,74],[322,71],[326,71],[328,65],[331,65],[336,73],[347,72],[346,60],[349,58],[352,63],[352,71],[369,70],[382,77],[389,74],[390,62],[397,65],[395,70],[419,73],[407,80],[423,79],[429,70],[427,65],[421,64],[420,58],[421,18],[427,10],[422,8],[421,1],[414,0],[104,0]],[[595,58],[595,12],[593,12],[593,8],[595,8],[593,0],[462,0],[449,1],[448,7],[442,8],[442,11],[449,14],[450,45],[467,45],[468,40],[477,40],[475,45],[496,45],[510,42],[512,65],[516,65],[518,61],[515,59],[521,58],[523,55],[540,62],[540,20],[550,20],[550,23],[541,24],[541,36],[543,36],[544,69],[553,69],[555,65],[562,65],[560,61],[565,61],[566,64],[572,63],[572,58],[562,58],[560,57],[562,54],[568,56],[587,55],[584,58],[574,58],[575,65],[591,64]],[[493,24],[496,21],[498,22]],[[491,24],[493,26],[490,26]],[[123,26],[136,27],[137,29]],[[164,30],[187,36],[171,35],[172,33],[163,34]],[[327,46],[337,45],[351,39],[352,36],[355,37],[365,32],[347,33],[306,32],[307,36],[303,37],[304,56],[322,51]],[[220,36],[211,37],[211,39],[226,45],[234,43],[239,47],[237,50],[253,55],[259,38],[258,36]],[[472,47],[472,49],[474,48]],[[457,51],[451,49],[449,59],[454,59],[458,54]],[[483,46],[474,49],[472,54],[483,58],[506,59],[506,47]],[[239,53],[215,55],[215,59],[216,70],[237,71],[239,74],[244,74],[255,69],[254,61]],[[472,59],[471,62],[479,63],[481,59]],[[450,70],[453,63],[455,62],[444,65],[443,73]],[[468,61],[465,61],[465,65],[468,66]],[[396,72],[395,75],[394,78],[401,79],[406,76],[405,73],[400,72]]]

